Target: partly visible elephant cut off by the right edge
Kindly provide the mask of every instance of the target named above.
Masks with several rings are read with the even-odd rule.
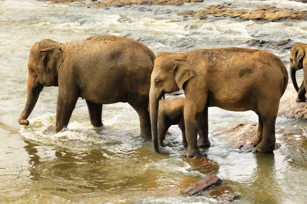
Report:
[[[307,86],[307,58],[306,56],[307,44],[295,44],[290,52],[290,75],[292,84],[297,92],[296,102],[304,102],[306,100],[306,86]],[[303,69],[304,79],[298,88],[295,73],[297,70]]]

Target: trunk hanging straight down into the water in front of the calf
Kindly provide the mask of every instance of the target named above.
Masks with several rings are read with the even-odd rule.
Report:
[[[156,93],[155,88],[150,87],[149,105],[150,105],[150,123],[153,149],[160,153],[158,143],[158,110],[159,110],[159,94]]]

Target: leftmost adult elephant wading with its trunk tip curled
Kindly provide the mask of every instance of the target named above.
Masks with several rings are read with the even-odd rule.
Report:
[[[58,86],[55,131],[69,123],[78,97],[85,98],[91,123],[102,126],[103,104],[129,103],[139,114],[141,135],[151,136],[147,111],[150,75],[156,56],[140,42],[117,36],[93,36],[33,45],[28,63],[28,96],[19,123],[28,125],[44,86]]]

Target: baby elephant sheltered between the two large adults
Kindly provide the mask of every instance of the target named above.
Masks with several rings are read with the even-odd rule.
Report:
[[[184,147],[188,147],[187,139],[185,136],[185,125],[184,125],[184,116],[183,116],[184,103],[185,103],[185,97],[181,96],[159,100],[158,142],[160,146],[163,145],[163,140],[165,139],[165,135],[169,127],[171,125],[178,124],[182,132],[182,144]],[[148,111],[149,111],[149,106],[148,106]],[[203,118],[201,119],[203,120]]]

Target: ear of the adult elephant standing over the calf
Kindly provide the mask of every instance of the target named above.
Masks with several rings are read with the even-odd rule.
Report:
[[[183,84],[188,81],[190,78],[194,77],[190,62],[184,59],[174,59],[173,63],[173,74],[175,81],[179,87],[182,89]]]

